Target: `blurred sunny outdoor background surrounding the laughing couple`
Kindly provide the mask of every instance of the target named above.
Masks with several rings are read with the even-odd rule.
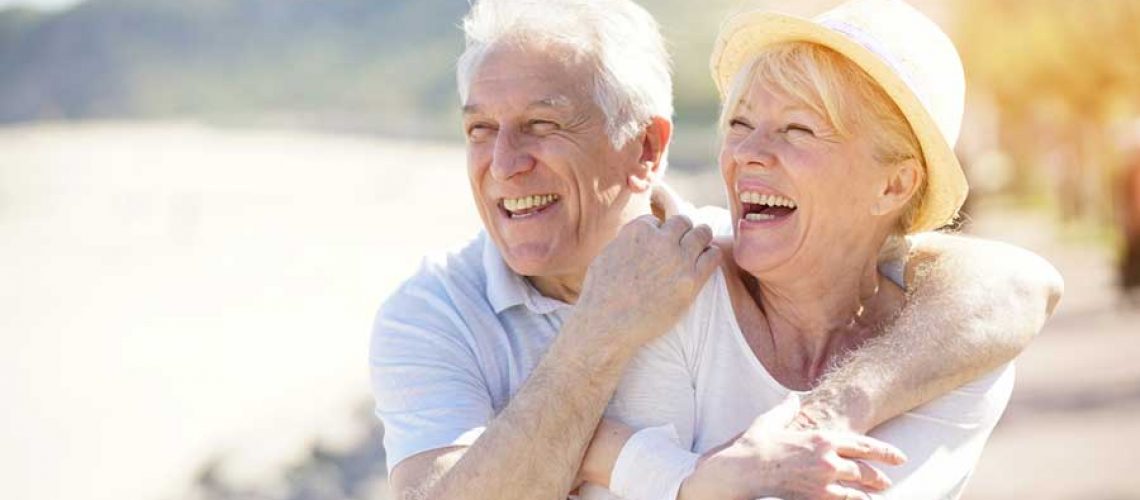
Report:
[[[838,1],[641,3],[675,56],[669,177],[719,204],[717,26]],[[1140,241],[1140,0],[913,3],[969,77],[961,229],[1067,281],[966,497],[1140,498],[1122,280]],[[0,0],[5,498],[386,498],[373,313],[480,227],[454,81],[467,9]]]

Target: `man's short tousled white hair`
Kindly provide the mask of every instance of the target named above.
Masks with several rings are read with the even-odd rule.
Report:
[[[657,21],[630,0],[480,0],[463,19],[466,49],[456,76],[459,100],[497,42],[554,43],[592,63],[593,95],[614,147],[653,116],[673,117],[669,55]]]

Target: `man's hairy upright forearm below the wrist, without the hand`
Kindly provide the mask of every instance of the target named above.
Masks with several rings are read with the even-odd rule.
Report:
[[[576,342],[570,320],[511,403],[427,498],[565,498],[627,352]]]

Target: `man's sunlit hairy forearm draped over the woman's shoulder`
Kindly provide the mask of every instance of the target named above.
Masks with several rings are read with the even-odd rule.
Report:
[[[806,419],[868,432],[992,371],[1040,331],[1062,289],[1048,262],[994,241],[923,235],[910,262],[903,313],[805,399]]]

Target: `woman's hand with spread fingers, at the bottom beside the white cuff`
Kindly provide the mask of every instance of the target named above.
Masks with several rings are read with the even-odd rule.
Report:
[[[865,499],[866,491],[890,486],[863,460],[899,465],[906,460],[901,451],[854,433],[789,431],[798,410],[798,399],[789,397],[702,456],[678,499]]]

